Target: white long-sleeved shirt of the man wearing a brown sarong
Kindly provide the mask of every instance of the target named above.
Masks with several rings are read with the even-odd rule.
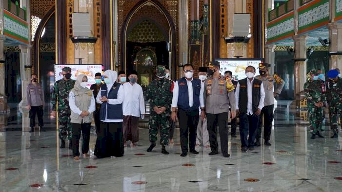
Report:
[[[142,93],[142,88],[139,84],[125,83],[125,100],[122,103],[123,115],[140,117],[140,114],[145,114],[145,102]]]

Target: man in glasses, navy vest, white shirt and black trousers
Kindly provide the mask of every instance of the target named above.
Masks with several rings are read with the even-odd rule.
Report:
[[[178,117],[180,123],[181,157],[188,154],[188,137],[190,153],[199,154],[195,150],[196,129],[199,122],[199,107],[204,108],[203,88],[201,80],[193,78],[194,67],[191,64],[185,64],[183,73],[184,77],[177,80],[173,88],[171,105],[172,121],[176,122]],[[178,107],[177,112],[176,107]]]

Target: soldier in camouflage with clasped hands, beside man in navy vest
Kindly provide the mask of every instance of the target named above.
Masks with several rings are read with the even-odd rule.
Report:
[[[147,99],[150,103],[149,139],[151,142],[147,152],[151,152],[156,146],[158,128],[160,127],[161,153],[169,154],[165,146],[169,142],[170,129],[170,106],[172,103],[172,80],[165,78],[165,66],[156,68],[157,79],[153,80],[147,87]]]

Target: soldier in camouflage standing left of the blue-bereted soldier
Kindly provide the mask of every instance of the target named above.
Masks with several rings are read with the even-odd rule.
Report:
[[[307,74],[307,81],[304,84],[304,95],[307,100],[307,109],[310,122],[311,139],[315,139],[316,135],[320,138],[323,121],[323,105],[325,102],[325,94],[322,90],[321,80],[318,78],[319,70],[311,70]]]

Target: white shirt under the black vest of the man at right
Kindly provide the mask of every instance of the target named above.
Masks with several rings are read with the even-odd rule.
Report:
[[[250,81],[247,78],[247,115],[253,114],[253,106],[252,106],[252,88],[253,88],[253,81]],[[236,90],[235,90],[235,107],[236,109],[239,109],[239,96],[240,96],[240,84],[238,83],[238,85],[236,86]],[[260,101],[259,101],[259,106],[258,108],[261,110],[263,107],[263,101],[265,100],[265,90],[263,89],[263,84],[260,85]]]

